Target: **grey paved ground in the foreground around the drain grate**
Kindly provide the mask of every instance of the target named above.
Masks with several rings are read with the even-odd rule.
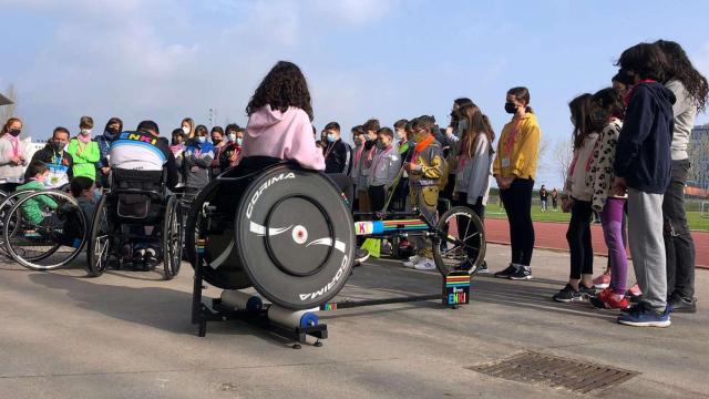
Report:
[[[508,248],[491,245],[492,269]],[[157,274],[33,273],[0,264],[0,398],[567,398],[563,390],[487,377],[466,367],[525,350],[612,365],[638,376],[604,398],[709,397],[709,308],[674,315],[668,329],[617,325],[609,311],[549,297],[568,256],[535,254],[534,282],[473,282],[471,305],[435,303],[338,310],[321,348],[239,323],[189,324],[192,269]],[[605,259],[598,259],[605,265]],[[709,270],[697,274],[701,305]],[[431,293],[433,273],[377,262],[356,269],[348,297]],[[215,288],[206,290],[217,296]]]

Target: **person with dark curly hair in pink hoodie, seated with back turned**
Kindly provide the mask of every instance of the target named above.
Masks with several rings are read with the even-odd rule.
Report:
[[[279,61],[256,89],[246,113],[244,157],[292,160],[305,168],[325,170],[322,151],[312,141],[308,83],[298,65]]]

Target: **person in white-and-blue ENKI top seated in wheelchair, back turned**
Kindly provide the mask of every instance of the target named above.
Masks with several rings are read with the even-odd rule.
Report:
[[[123,185],[146,191],[157,190],[164,172],[168,191],[173,191],[178,182],[175,156],[169,150],[169,143],[166,139],[160,137],[160,127],[153,121],[141,122],[135,132],[122,132],[111,145],[109,163],[114,178],[119,181],[119,187]],[[123,211],[141,216],[141,208],[147,208],[150,201],[150,197],[141,194],[121,194],[119,213]],[[147,215],[143,213],[142,216]],[[131,235],[144,234],[154,237],[157,232],[154,227],[131,226]],[[129,243],[123,248],[123,257],[130,258],[134,266],[142,263],[143,268],[150,270],[157,264],[158,249],[154,241],[150,239]]]

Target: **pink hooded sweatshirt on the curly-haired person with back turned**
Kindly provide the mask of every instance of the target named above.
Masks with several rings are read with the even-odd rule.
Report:
[[[266,105],[253,113],[244,134],[242,156],[292,160],[305,168],[325,171],[325,157],[315,145],[310,119],[295,106],[280,112]]]

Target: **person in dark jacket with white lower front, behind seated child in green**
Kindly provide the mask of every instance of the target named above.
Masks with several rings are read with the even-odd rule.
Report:
[[[69,143],[69,131],[59,126],[54,129],[52,139],[44,149],[38,151],[32,156],[32,161],[41,161],[49,168],[49,177],[44,182],[45,188],[59,188],[74,177],[72,166],[74,161],[70,153],[64,151]]]

